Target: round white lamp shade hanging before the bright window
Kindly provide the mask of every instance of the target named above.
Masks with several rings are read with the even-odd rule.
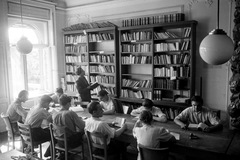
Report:
[[[33,45],[27,39],[27,37],[22,36],[20,40],[17,42],[17,50],[22,54],[28,54],[32,52]]]

